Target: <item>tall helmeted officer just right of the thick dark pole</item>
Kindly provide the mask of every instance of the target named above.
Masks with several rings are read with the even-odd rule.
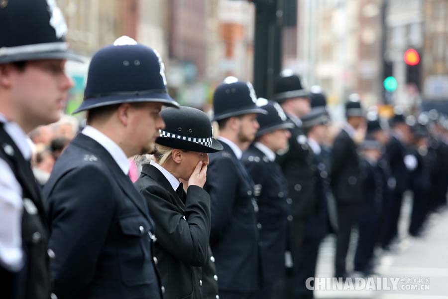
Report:
[[[288,276],[294,279],[288,281],[286,288],[289,293],[294,293],[299,286],[299,282],[295,281],[301,271],[297,259],[303,242],[306,219],[316,207],[316,167],[313,165],[313,153],[308,146],[300,120],[310,111],[309,91],[302,86],[298,75],[291,70],[283,70],[275,84],[274,100],[281,105],[288,120],[294,125],[294,128],[290,129],[288,150],[277,157],[288,182],[288,194],[292,200],[292,217],[288,228],[288,254],[292,258],[292,271],[288,271]]]

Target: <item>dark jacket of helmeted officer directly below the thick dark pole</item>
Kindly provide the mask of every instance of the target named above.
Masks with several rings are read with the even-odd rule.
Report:
[[[244,151],[241,161],[257,186],[260,255],[263,280],[274,283],[285,275],[288,189],[280,166],[255,145]]]

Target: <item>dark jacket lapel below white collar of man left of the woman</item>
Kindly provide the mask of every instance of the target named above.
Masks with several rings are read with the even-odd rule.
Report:
[[[112,158],[112,155],[109,153],[109,151],[107,151],[98,142],[96,142],[92,138],[90,138],[82,133],[79,133],[75,137],[75,139],[73,140],[73,143],[78,145],[79,147],[88,149],[89,151],[98,154],[98,156],[101,157],[101,160],[104,162],[104,164],[111,171],[112,176],[114,177],[115,181],[117,182],[117,184],[121,188],[121,190],[130,198],[130,200],[140,210],[140,212],[149,221],[152,222],[152,220],[149,217],[149,212],[144,203],[143,197],[140,195],[140,193],[137,191],[135,186],[132,184],[132,181],[130,180],[129,176],[127,176],[126,174],[123,173],[121,168],[118,166],[118,164]]]

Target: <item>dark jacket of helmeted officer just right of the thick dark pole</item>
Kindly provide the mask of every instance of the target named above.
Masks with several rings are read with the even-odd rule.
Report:
[[[313,163],[313,152],[308,146],[307,137],[302,129],[291,118],[294,124],[289,129],[289,149],[277,156],[277,163],[283,170],[288,183],[288,194],[292,199],[291,215],[296,220],[305,220],[316,211],[316,166]]]

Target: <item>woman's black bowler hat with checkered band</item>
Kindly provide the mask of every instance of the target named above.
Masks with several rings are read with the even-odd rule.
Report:
[[[156,143],[174,149],[217,152],[223,145],[213,138],[213,127],[207,114],[199,109],[181,106],[163,109],[160,116],[165,129]]]

